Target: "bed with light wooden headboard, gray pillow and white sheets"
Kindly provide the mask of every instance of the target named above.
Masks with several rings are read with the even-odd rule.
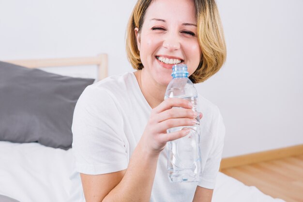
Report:
[[[2,68],[3,65],[5,68]],[[71,188],[69,177],[74,172],[70,145],[72,137],[68,127],[77,98],[95,80],[60,76],[36,69],[37,72],[34,68],[79,65],[96,65],[97,80],[107,76],[106,54],[85,58],[0,62],[0,202],[68,201]],[[11,72],[14,68],[17,72]],[[75,89],[71,92],[72,87]],[[37,90],[24,93],[28,88]],[[8,95],[14,99],[6,98]],[[42,96],[51,102],[43,100]],[[45,108],[51,110],[45,111]],[[8,114],[8,109],[14,112],[14,116]],[[34,115],[28,115],[32,111]],[[49,113],[48,117],[46,113]],[[51,116],[55,115],[60,118],[52,119]],[[61,130],[56,130],[52,124]],[[34,137],[32,134],[35,134]],[[284,201],[273,199],[256,187],[245,186],[219,172],[212,202]]]

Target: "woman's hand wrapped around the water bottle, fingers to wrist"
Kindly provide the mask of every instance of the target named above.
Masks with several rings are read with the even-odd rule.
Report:
[[[152,113],[145,127],[139,144],[151,155],[158,155],[167,141],[177,140],[189,134],[190,129],[167,133],[167,129],[178,126],[192,126],[197,123],[197,116],[201,113],[192,110],[190,101],[182,98],[167,98]]]

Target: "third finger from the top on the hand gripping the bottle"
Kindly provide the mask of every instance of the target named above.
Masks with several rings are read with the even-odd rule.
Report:
[[[189,119],[189,118],[176,118],[176,119],[167,119],[163,122],[157,124],[157,132],[162,133],[169,128],[179,127],[179,126],[193,126],[197,124],[197,119]]]

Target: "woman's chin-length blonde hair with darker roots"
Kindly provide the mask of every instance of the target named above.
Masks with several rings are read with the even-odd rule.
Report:
[[[140,70],[143,64],[137,48],[135,28],[141,31],[147,8],[153,0],[138,0],[129,18],[126,31],[126,52],[133,68]],[[189,77],[200,83],[217,73],[226,60],[226,44],[223,27],[215,0],[194,0],[197,18],[197,38],[202,51],[196,71]]]

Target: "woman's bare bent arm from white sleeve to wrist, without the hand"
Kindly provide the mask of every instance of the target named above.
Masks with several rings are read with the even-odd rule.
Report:
[[[127,170],[101,175],[81,173],[86,202],[149,202],[157,161],[158,155],[149,155],[138,145]]]

